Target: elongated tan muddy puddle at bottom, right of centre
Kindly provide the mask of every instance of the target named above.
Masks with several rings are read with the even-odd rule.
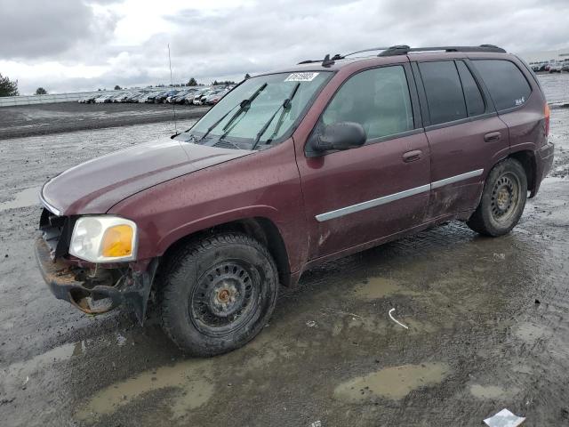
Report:
[[[450,368],[444,363],[387,367],[341,383],[334,390],[334,397],[350,403],[374,396],[399,400],[413,390],[443,382],[449,373]]]

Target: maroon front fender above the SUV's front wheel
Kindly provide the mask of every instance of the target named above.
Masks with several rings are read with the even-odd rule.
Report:
[[[281,233],[291,271],[306,260],[308,232],[293,141],[206,167],[114,205],[139,227],[138,259],[164,254],[180,238],[225,222],[263,217]]]

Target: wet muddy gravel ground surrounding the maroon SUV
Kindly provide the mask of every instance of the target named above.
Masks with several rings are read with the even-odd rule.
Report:
[[[155,318],[55,300],[33,259],[43,181],[171,128],[0,141],[0,424],[469,426],[507,407],[569,425],[569,109],[552,109],[554,170],[508,236],[451,222],[311,270],[213,359],[184,357]]]

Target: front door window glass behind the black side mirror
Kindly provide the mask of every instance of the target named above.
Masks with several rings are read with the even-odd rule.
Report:
[[[356,122],[368,140],[413,129],[413,109],[405,69],[373,68],[350,77],[322,115],[324,125]]]

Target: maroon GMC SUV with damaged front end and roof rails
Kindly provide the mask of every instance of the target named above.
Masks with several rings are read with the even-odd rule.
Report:
[[[317,264],[466,221],[508,233],[553,162],[533,72],[493,45],[360,52],[245,80],[184,133],[45,183],[36,254],[87,313],[156,302],[213,355]]]

